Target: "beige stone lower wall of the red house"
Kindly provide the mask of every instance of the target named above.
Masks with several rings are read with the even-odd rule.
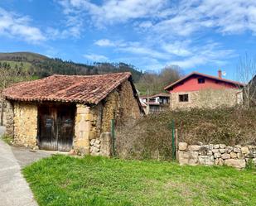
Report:
[[[188,94],[188,102],[179,102],[179,95]],[[171,93],[171,109],[234,107],[242,103],[239,89],[201,89]]]

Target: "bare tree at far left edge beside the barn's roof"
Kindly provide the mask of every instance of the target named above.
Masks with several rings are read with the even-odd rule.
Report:
[[[25,69],[21,68],[4,68],[0,67],[0,101],[1,101],[1,111],[0,111],[0,125],[3,123],[3,110],[4,110],[4,98],[2,96],[2,90],[6,89],[11,84],[29,80],[31,79],[31,74]]]

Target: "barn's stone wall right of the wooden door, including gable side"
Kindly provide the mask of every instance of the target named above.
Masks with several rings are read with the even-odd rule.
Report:
[[[133,96],[133,88],[129,81],[125,81],[117,89],[114,89],[97,105],[77,104],[75,153],[109,156],[110,140],[104,134],[111,131],[111,120],[115,119],[118,122],[129,117],[136,118],[140,115],[138,102]]]

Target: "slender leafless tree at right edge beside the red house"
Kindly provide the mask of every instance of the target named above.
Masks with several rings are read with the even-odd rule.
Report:
[[[252,103],[255,103],[256,85],[254,78],[256,75],[256,60],[245,54],[239,58],[237,66],[237,75],[239,82],[244,84],[244,104],[250,108]]]

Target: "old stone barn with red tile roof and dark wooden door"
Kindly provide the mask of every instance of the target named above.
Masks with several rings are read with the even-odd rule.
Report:
[[[52,75],[13,84],[3,95],[7,135],[17,145],[52,151],[100,155],[105,147],[102,155],[109,155],[103,144],[110,140],[103,137],[111,131],[111,119],[143,114],[130,73]]]

